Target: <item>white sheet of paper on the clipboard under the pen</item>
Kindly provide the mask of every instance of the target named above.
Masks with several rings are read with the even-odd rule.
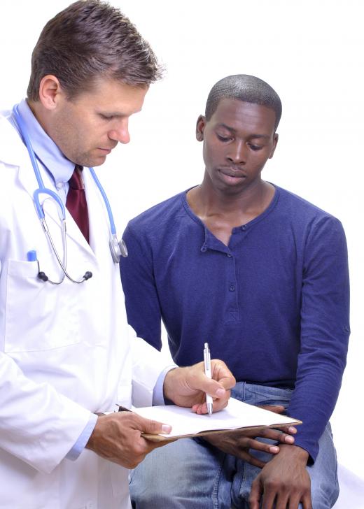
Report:
[[[226,408],[211,415],[197,415],[190,408],[176,405],[133,408],[133,411],[142,417],[146,417],[146,419],[162,422],[162,424],[170,424],[172,426],[171,433],[162,434],[162,436],[171,438],[181,435],[195,435],[202,431],[217,429],[272,426],[297,422],[286,415],[248,405],[248,403],[243,403],[234,398],[230,398]]]

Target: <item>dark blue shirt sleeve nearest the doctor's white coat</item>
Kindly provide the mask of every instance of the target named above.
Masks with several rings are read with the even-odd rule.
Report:
[[[161,350],[161,311],[155,287],[153,254],[146,239],[136,235],[130,224],[124,231],[128,256],[120,257],[120,275],[125,294],[127,321],[150,345]]]

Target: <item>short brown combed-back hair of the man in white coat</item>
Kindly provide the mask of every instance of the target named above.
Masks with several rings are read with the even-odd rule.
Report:
[[[27,96],[39,99],[44,76],[55,76],[74,99],[90,91],[98,78],[146,87],[162,77],[162,68],[134,24],[100,0],[79,0],[45,24],[31,55]]]

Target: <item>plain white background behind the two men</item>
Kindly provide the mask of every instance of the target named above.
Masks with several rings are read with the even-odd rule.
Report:
[[[137,24],[167,74],[131,121],[132,143],[99,169],[120,232],[127,220],[202,179],[195,121],[214,83],[266,80],[283,103],[279,144],[264,175],[339,217],[351,271],[351,342],[332,416],[340,463],[364,479],[364,30],[360,0],[112,1]],[[45,22],[69,1],[0,3],[0,108],[25,96]],[[1,205],[0,205],[1,206]]]

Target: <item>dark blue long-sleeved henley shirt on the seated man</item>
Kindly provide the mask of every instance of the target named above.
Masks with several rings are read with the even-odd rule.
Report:
[[[138,336],[176,364],[202,360],[204,342],[237,381],[293,389],[295,444],[316,459],[337,401],[349,340],[349,273],[342,224],[275,187],[269,207],[218,240],[186,192],[129,222],[120,270]]]

